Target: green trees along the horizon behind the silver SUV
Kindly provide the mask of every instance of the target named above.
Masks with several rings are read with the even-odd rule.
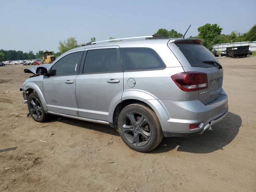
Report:
[[[256,41],[256,25],[254,25],[248,32],[240,33],[236,31],[232,31],[230,34],[222,34],[223,28],[218,24],[205,24],[198,28],[197,36],[190,36],[189,38],[199,38],[203,40],[203,45],[206,46],[209,50],[212,50],[212,46],[214,44],[221,43],[230,43],[230,42],[243,42],[243,41]],[[182,34],[177,32],[174,29],[170,31],[167,29],[158,29],[155,33],[156,35],[162,35],[168,38],[180,38]],[[114,37],[110,37],[109,39],[114,39]],[[90,42],[95,42],[96,38],[90,38]],[[67,40],[59,41],[59,52],[52,52],[52,54],[57,58],[64,52],[82,46],[84,44],[78,44],[76,38],[70,37]],[[6,60],[31,60],[36,58],[42,58],[43,51],[40,50],[34,54],[33,51],[23,52],[16,50],[0,50],[0,62]]]

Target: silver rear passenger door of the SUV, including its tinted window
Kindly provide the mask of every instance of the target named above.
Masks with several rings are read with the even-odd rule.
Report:
[[[76,78],[79,116],[109,121],[110,107],[122,98],[123,78],[118,46],[86,49],[84,67]]]

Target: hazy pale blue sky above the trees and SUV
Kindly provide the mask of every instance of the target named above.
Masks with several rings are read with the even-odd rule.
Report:
[[[222,33],[256,24],[256,0],[0,0],[0,49],[58,51],[59,40],[78,43],[145,36],[159,28],[196,36],[206,23]]]

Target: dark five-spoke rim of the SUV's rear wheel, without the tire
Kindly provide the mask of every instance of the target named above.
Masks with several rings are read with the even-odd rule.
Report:
[[[122,131],[125,138],[135,146],[144,146],[151,138],[148,120],[138,112],[129,112],[124,116]]]

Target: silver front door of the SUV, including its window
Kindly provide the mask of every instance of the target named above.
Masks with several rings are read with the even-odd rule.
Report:
[[[66,54],[43,80],[44,97],[49,111],[78,116],[76,77],[84,50]]]

